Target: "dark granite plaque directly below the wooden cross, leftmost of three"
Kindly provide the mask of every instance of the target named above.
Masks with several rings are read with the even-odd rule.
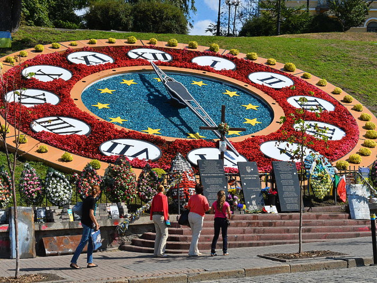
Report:
[[[210,206],[217,200],[217,192],[220,190],[228,194],[227,181],[224,174],[224,163],[221,159],[198,160],[200,180],[204,187],[204,195]]]

